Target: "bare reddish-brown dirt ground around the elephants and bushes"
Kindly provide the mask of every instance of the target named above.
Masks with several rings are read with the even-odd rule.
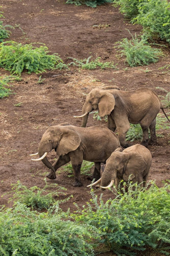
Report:
[[[117,56],[115,42],[122,38],[131,38],[140,34],[141,27],[128,23],[118,8],[105,4],[92,9],[87,6],[77,7],[56,0],[1,0],[4,11],[4,24],[12,29],[10,40],[19,43],[45,43],[51,53],[58,53],[64,62],[69,57],[93,59],[101,57],[101,61],[113,61],[118,69],[95,69],[47,71],[41,74],[42,84],[38,83],[40,74],[22,74],[22,81],[15,82],[13,94],[0,100],[0,194],[11,190],[11,184],[18,180],[27,187],[44,187],[44,177],[48,170],[42,162],[33,162],[30,155],[37,152],[39,141],[45,130],[52,125],[69,122],[81,126],[81,119],[73,118],[80,115],[86,94],[92,88],[103,85],[117,85],[121,90],[147,87],[155,90],[158,95],[163,91],[155,89],[163,87],[169,91],[169,73],[159,69],[169,63],[169,48],[164,48],[165,57],[158,63],[129,68],[124,59]],[[0,76],[9,75],[0,69]],[[17,107],[16,104],[20,105]],[[166,108],[166,113],[169,110]],[[106,125],[89,118],[88,126]],[[158,144],[149,146],[153,161],[149,180],[156,180],[161,186],[162,181],[170,179],[169,171],[169,130],[158,130],[163,135]],[[134,143],[137,143],[135,141]],[[55,152],[49,154],[53,162]],[[90,182],[82,176],[83,187],[72,187],[73,177],[67,172],[57,174],[56,180],[47,183],[58,183],[67,188],[66,196],[73,198],[66,202],[64,210],[74,209],[73,202],[84,205],[90,199]],[[96,191],[101,194],[100,190]],[[103,197],[112,197],[110,191],[104,191]],[[61,197],[61,199],[63,199]],[[8,205],[8,196],[0,197],[0,205]],[[107,254],[108,255],[108,254]],[[111,255],[111,254],[110,254]]]

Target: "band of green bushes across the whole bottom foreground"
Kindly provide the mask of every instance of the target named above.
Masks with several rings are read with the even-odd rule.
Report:
[[[13,187],[16,193],[20,185],[18,182]],[[98,198],[91,190],[90,202],[83,205],[83,210],[77,205],[77,211],[73,213],[70,210],[63,212],[61,201],[53,202],[47,212],[41,213],[17,201],[13,208],[2,207],[1,255],[92,256],[100,248],[100,252],[102,249],[112,250],[123,256],[137,255],[146,246],[168,255],[169,183],[158,188],[150,182],[144,189],[136,183],[127,185],[128,192],[124,188],[123,191],[114,189],[114,199],[106,202],[102,194]],[[23,191],[29,190],[24,188]]]

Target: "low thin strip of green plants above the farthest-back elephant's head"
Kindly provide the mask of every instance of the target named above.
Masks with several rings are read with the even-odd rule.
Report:
[[[82,69],[95,69],[98,66],[101,69],[105,69],[105,68],[116,68],[117,64],[115,65],[113,62],[100,62],[100,57],[97,57],[97,59],[95,59],[94,61],[90,61],[90,59],[92,58],[92,56],[90,56],[87,59],[84,60],[77,60],[75,58],[69,58],[72,59],[73,62],[71,62],[69,65],[73,65],[73,66],[78,66],[78,68],[82,68]]]

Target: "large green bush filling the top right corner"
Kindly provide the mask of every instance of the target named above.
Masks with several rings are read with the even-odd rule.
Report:
[[[132,23],[143,26],[144,37],[170,43],[170,3],[167,0],[114,0]]]

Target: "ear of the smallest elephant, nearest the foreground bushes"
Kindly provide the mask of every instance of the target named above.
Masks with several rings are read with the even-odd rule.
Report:
[[[140,172],[146,169],[146,162],[137,152],[125,153],[124,156],[127,159],[126,167],[124,169],[123,180],[127,181],[134,179]],[[129,177],[130,176],[130,177]]]

